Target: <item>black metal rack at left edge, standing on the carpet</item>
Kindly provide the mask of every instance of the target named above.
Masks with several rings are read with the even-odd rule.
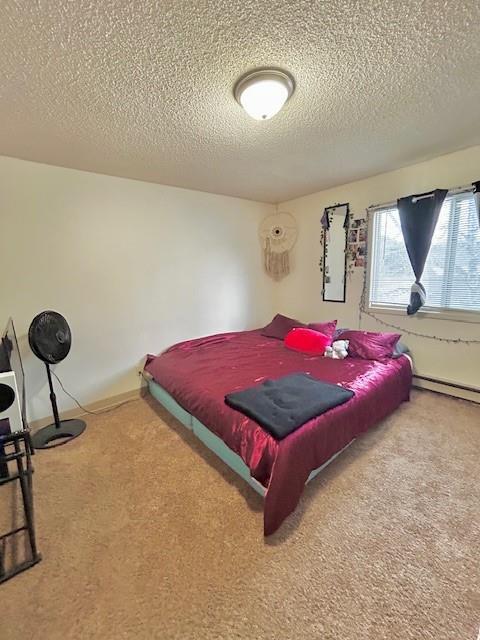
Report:
[[[33,512],[33,466],[30,430],[17,431],[0,435],[0,487],[11,482],[20,484],[24,524],[0,535],[0,584],[13,578],[21,571],[29,569],[40,562],[42,556],[38,553],[35,539],[35,523]],[[5,568],[6,544],[9,538],[21,532],[27,533],[29,557],[15,566]]]

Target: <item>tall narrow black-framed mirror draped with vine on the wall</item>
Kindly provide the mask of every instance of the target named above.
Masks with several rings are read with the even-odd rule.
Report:
[[[348,203],[327,207],[323,213],[323,300],[325,302],[345,302],[349,213]]]

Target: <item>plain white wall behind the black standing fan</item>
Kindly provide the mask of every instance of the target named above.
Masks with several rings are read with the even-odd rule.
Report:
[[[0,324],[13,316],[20,335],[30,419],[50,414],[44,368],[26,339],[39,311],[70,323],[72,350],[56,371],[83,403],[138,387],[147,352],[270,320],[257,229],[271,212],[0,157]],[[58,399],[73,407],[61,391]]]

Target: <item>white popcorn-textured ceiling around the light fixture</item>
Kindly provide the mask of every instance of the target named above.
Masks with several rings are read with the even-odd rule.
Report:
[[[480,142],[478,0],[2,0],[0,154],[277,202]],[[235,80],[296,92],[249,118]]]

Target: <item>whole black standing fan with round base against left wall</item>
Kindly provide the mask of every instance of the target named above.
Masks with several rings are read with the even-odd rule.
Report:
[[[60,420],[57,399],[53,391],[50,365],[57,364],[67,357],[72,346],[72,334],[63,316],[56,311],[42,311],[32,320],[28,330],[28,341],[33,353],[47,367],[50,401],[55,420],[48,427],[39,429],[32,436],[32,441],[35,449],[49,449],[73,440],[83,433],[87,426],[83,420]],[[58,440],[61,442],[56,442]]]

